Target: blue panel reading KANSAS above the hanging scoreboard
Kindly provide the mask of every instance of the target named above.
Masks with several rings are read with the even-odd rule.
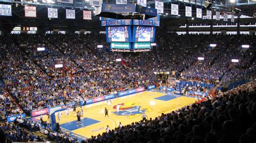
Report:
[[[102,12],[134,12],[134,4],[102,4]]]

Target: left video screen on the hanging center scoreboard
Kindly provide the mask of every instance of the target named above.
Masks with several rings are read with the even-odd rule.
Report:
[[[130,26],[106,27],[107,42],[131,42]]]

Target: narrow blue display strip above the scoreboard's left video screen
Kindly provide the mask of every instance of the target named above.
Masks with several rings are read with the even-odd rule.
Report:
[[[131,19],[102,20],[102,26],[132,25]]]

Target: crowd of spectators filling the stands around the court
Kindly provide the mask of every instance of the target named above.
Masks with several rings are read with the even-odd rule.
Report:
[[[239,49],[242,44],[256,46],[255,37],[248,35],[159,33],[156,37],[157,48],[141,53],[112,53],[108,52],[108,47],[97,48],[97,45],[107,45],[104,34],[15,35],[0,37],[0,41],[1,80],[6,84],[6,89],[0,89],[1,119],[22,113],[10,95],[22,110],[29,114],[33,110],[154,84],[159,82],[152,72],[154,69],[180,73],[180,75],[176,74],[176,77],[181,81],[217,84],[220,81],[244,75],[255,70],[256,67],[255,49]],[[212,43],[217,46],[208,47]],[[45,47],[45,51],[37,51],[37,47]],[[199,56],[204,57],[205,60],[198,61]],[[116,62],[116,59],[123,59],[123,61]],[[231,63],[231,59],[239,59],[239,63]],[[56,64],[63,64],[63,68],[55,68]],[[255,85],[250,84],[249,87],[255,89]],[[208,92],[210,88],[181,85],[181,91],[184,94],[189,90]],[[244,92],[249,93],[247,90],[244,91],[243,87],[237,90],[242,90],[242,95]],[[225,135],[230,135],[225,134],[226,130],[234,124],[232,115],[231,117],[226,115],[226,112],[232,110],[226,104],[226,98],[234,102],[232,98],[239,97],[243,100],[237,102],[244,104],[243,106],[247,106],[244,100],[249,101],[241,98],[240,95],[233,95],[234,92],[236,91],[228,92],[230,94],[228,96],[224,93],[211,101],[163,114],[154,120],[140,121],[110,133],[104,133],[91,140],[127,139],[155,142],[154,139],[163,141],[171,139],[173,142],[179,142],[186,139],[200,142],[202,139],[207,141],[214,137],[216,140],[221,140]],[[215,104],[217,102],[218,104]],[[237,105],[233,107],[237,108]],[[224,112],[224,110],[227,111]],[[235,110],[237,113],[241,112],[238,108]],[[233,110],[231,112],[234,114]],[[221,116],[219,121],[217,115],[223,115],[225,118]],[[252,116],[251,112],[248,112],[248,115]],[[231,119],[233,122],[227,121],[228,127],[226,127],[224,119]],[[213,120],[214,123],[212,123]],[[211,130],[210,125],[217,123],[218,134],[206,134]],[[223,127],[222,130],[221,127]],[[31,140],[31,134],[24,133],[16,125],[6,124],[4,130],[13,131],[12,136],[18,131],[22,132],[18,136],[15,135],[17,139],[11,137],[14,140],[18,138]],[[217,129],[214,128],[214,132],[215,130]],[[11,132],[8,132],[8,135]],[[27,138],[28,135],[29,138]],[[63,134],[60,136],[65,137]]]

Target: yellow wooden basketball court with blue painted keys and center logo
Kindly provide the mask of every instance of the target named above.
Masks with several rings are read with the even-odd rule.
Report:
[[[119,122],[122,125],[127,125],[142,120],[143,112],[146,113],[148,118],[154,119],[160,116],[161,113],[170,113],[173,110],[192,104],[196,100],[192,97],[144,91],[114,98],[111,106],[107,106],[106,101],[83,106],[84,117],[81,119],[81,125],[77,125],[76,112],[73,112],[73,109],[69,109],[68,116],[66,116],[66,110],[64,110],[59,123],[64,132],[82,140],[90,138],[91,135],[102,134],[105,132],[107,125],[112,130],[118,127]],[[117,104],[121,105],[119,115],[116,114]],[[109,117],[105,117],[105,107],[109,110]],[[76,111],[78,110],[81,111],[81,108],[77,107]],[[55,113],[56,121],[58,120],[57,115],[58,112]],[[43,118],[47,120],[46,116]]]

